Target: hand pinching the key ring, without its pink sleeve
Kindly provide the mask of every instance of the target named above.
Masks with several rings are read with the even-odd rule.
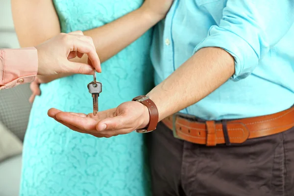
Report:
[[[35,47],[38,50],[38,75],[59,73],[93,74],[94,69],[101,72],[98,54],[91,37],[82,31],[60,33],[47,42]],[[71,62],[74,57],[88,55],[88,64]]]

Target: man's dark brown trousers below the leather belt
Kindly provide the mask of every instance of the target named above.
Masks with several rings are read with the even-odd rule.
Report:
[[[294,196],[294,127],[232,146],[175,139],[163,123],[148,137],[153,196]]]

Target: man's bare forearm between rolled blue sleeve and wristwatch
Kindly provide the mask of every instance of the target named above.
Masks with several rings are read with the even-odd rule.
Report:
[[[234,72],[234,58],[224,49],[200,49],[148,93],[158,108],[159,121],[206,97]]]

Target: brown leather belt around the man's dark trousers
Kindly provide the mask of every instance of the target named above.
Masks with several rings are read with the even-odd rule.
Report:
[[[241,144],[247,139],[286,131],[294,126],[294,107],[271,115],[233,121],[196,122],[195,117],[176,113],[162,122],[176,138],[207,146]]]

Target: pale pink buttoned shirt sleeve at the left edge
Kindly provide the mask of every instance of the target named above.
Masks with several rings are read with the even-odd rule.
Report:
[[[0,49],[0,90],[32,82],[37,72],[37,49]]]

